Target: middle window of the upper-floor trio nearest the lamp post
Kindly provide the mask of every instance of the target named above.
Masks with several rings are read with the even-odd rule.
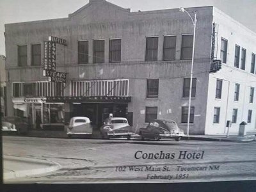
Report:
[[[175,60],[176,36],[164,36],[163,60]]]

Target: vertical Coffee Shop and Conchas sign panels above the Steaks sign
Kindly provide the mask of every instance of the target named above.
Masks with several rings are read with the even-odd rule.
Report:
[[[44,42],[44,69],[56,71],[56,43]]]

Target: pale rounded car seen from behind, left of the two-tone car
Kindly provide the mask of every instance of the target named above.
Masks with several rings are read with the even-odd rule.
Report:
[[[67,135],[70,138],[75,134],[92,134],[92,125],[88,117],[73,116],[70,118],[70,122],[67,127]]]

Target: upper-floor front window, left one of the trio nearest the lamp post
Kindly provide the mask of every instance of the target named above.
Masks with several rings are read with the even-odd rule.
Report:
[[[146,38],[146,61],[157,61],[158,37]]]

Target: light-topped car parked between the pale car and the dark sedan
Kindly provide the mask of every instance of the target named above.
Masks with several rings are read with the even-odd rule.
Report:
[[[130,140],[131,135],[134,134],[127,118],[124,117],[107,118],[100,127],[100,133],[103,139],[126,136],[127,140]]]

